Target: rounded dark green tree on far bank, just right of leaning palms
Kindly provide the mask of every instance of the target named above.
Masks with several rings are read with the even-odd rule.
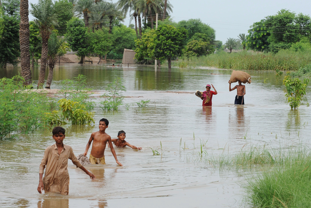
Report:
[[[67,24],[68,43],[72,51],[77,51],[81,57],[79,64],[84,63],[84,58],[88,54],[87,28],[83,20],[78,17],[72,17]]]

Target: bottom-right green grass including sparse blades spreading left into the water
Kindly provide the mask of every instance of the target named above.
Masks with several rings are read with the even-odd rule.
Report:
[[[311,207],[311,151],[302,145],[279,150],[251,146],[235,154],[207,155],[205,162],[235,170],[259,167],[261,174],[244,186],[250,207]]]

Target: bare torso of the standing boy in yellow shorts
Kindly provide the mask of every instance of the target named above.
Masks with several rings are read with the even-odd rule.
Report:
[[[106,144],[108,138],[110,137],[108,134],[100,134],[99,131],[94,132],[94,139],[92,144],[91,155],[96,158],[104,157]]]

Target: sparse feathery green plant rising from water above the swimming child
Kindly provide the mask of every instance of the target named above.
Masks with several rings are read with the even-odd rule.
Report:
[[[103,106],[103,110],[118,110],[119,106],[123,104],[124,97],[122,92],[126,91],[125,86],[122,85],[123,80],[118,77],[114,79],[114,81],[107,85],[106,91],[108,94],[105,93],[102,97],[105,98],[103,102],[100,102]]]

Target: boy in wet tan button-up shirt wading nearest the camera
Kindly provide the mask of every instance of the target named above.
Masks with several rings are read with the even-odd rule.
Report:
[[[44,151],[44,156],[40,164],[39,185],[37,190],[39,193],[42,193],[41,191],[44,190],[45,193],[57,192],[68,195],[68,159],[71,159],[72,163],[89,175],[92,180],[95,179],[95,176],[81,165],[73,153],[72,148],[63,144],[65,129],[61,126],[56,126],[53,128],[52,133],[55,144],[47,147]],[[45,175],[42,179],[45,166]]]

